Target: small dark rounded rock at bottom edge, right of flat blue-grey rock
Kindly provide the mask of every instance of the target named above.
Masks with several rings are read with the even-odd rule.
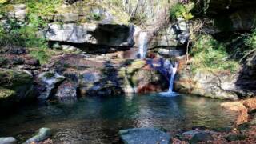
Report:
[[[207,142],[212,140],[214,140],[214,138],[212,137],[212,134],[207,132],[200,132],[200,133],[194,134],[194,136],[190,139],[190,143],[196,144],[198,142]]]

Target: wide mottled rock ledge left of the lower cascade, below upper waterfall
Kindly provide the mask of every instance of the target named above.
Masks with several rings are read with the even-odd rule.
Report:
[[[169,76],[163,59],[95,61],[81,57],[66,55],[54,66],[59,74],[77,78],[78,94],[104,96],[168,89]]]

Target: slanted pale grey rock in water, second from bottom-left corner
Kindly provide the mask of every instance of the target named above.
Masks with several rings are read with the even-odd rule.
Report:
[[[46,140],[47,138],[50,138],[51,136],[51,130],[49,128],[41,128],[38,130],[38,133],[34,135],[34,137],[26,140],[26,144],[30,144],[33,142],[42,142]]]

